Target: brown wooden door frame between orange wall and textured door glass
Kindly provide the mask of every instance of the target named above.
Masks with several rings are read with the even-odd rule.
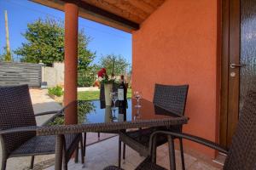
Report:
[[[230,63],[240,62],[240,0],[222,0],[221,103],[219,143],[229,147],[239,116],[240,69]],[[230,72],[236,77],[230,77]]]

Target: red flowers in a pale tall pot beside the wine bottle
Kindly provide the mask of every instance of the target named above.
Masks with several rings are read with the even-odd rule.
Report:
[[[112,96],[110,93],[113,91],[113,83],[115,82],[113,73],[111,77],[108,77],[106,69],[102,68],[98,71],[98,79],[101,82],[101,86],[104,86],[105,105],[112,105]]]

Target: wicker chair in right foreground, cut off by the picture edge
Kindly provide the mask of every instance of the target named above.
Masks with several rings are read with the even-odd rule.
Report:
[[[247,94],[245,104],[243,105],[241,116],[236,127],[236,133],[232,138],[230,150],[226,150],[219,144],[213,143],[207,139],[202,139],[190,134],[175,133],[168,131],[156,131],[151,134],[151,139],[154,135],[167,135],[168,138],[182,138],[188,139],[198,144],[206,145],[214,150],[218,150],[227,155],[224,162],[224,170],[253,170],[256,169],[256,91],[250,91]],[[151,148],[152,145],[149,146]],[[170,147],[170,145],[169,145]],[[170,157],[172,169],[175,169],[175,156]],[[157,166],[150,159],[146,158],[136,169],[150,170],[150,169],[165,169]],[[153,168],[151,168],[153,167]],[[121,170],[119,167],[106,167],[104,170]]]

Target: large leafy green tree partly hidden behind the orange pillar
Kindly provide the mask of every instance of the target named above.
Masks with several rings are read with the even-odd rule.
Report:
[[[52,65],[55,61],[64,60],[64,27],[61,21],[53,19],[38,19],[27,25],[27,30],[22,34],[26,42],[15,50],[21,55],[22,62]],[[95,54],[87,49],[90,37],[84,31],[79,31],[79,68],[86,68],[94,59]]]

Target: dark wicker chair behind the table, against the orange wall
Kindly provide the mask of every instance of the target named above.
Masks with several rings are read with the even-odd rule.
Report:
[[[155,84],[154,88],[154,105],[160,106],[167,111],[170,111],[175,115],[184,115],[187,94],[188,94],[189,85],[181,86],[169,86]],[[181,133],[182,126],[172,126],[172,127],[160,127],[158,130],[170,130],[172,132]],[[120,132],[119,133],[119,167],[121,161],[121,142],[124,143],[123,147],[123,159],[125,159],[125,144],[128,144],[133,150],[137,150],[142,156],[148,156],[148,144],[149,137],[153,133],[155,128],[143,128],[131,132]],[[179,139],[180,150],[181,150],[181,159],[182,166],[184,168],[184,159],[183,159],[183,141]],[[166,136],[160,135],[155,138],[156,146],[165,144],[167,142]],[[154,160],[156,160],[156,147],[154,148]]]

